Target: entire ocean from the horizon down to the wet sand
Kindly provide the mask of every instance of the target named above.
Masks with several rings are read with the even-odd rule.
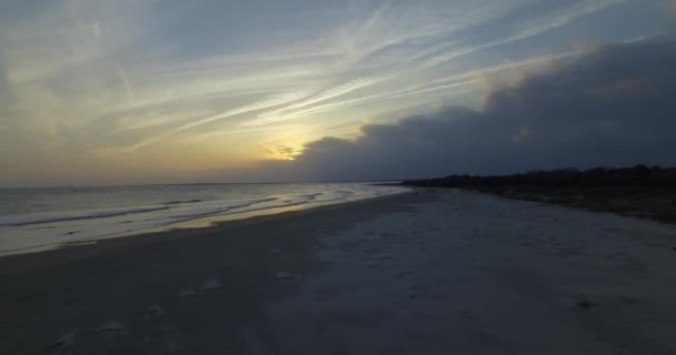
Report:
[[[374,183],[0,190],[0,256],[407,191]]]

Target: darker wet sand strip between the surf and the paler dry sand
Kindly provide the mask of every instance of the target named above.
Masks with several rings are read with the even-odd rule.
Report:
[[[242,328],[265,331],[266,304],[300,292],[324,267],[318,234],[431,199],[402,193],[0,257],[0,353],[180,353],[187,345],[176,332],[198,353],[223,336],[246,353]],[[128,337],[136,332],[150,344]]]

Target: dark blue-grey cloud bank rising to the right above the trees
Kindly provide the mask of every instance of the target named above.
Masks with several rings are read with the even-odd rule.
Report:
[[[609,45],[491,90],[480,110],[307,144],[289,179],[365,180],[676,164],[676,41]],[[268,166],[271,168],[271,166]]]

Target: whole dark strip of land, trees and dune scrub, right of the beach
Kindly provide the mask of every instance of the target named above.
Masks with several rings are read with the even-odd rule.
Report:
[[[537,171],[500,176],[450,175],[401,185],[456,187],[506,199],[537,201],[676,223],[676,169]]]

